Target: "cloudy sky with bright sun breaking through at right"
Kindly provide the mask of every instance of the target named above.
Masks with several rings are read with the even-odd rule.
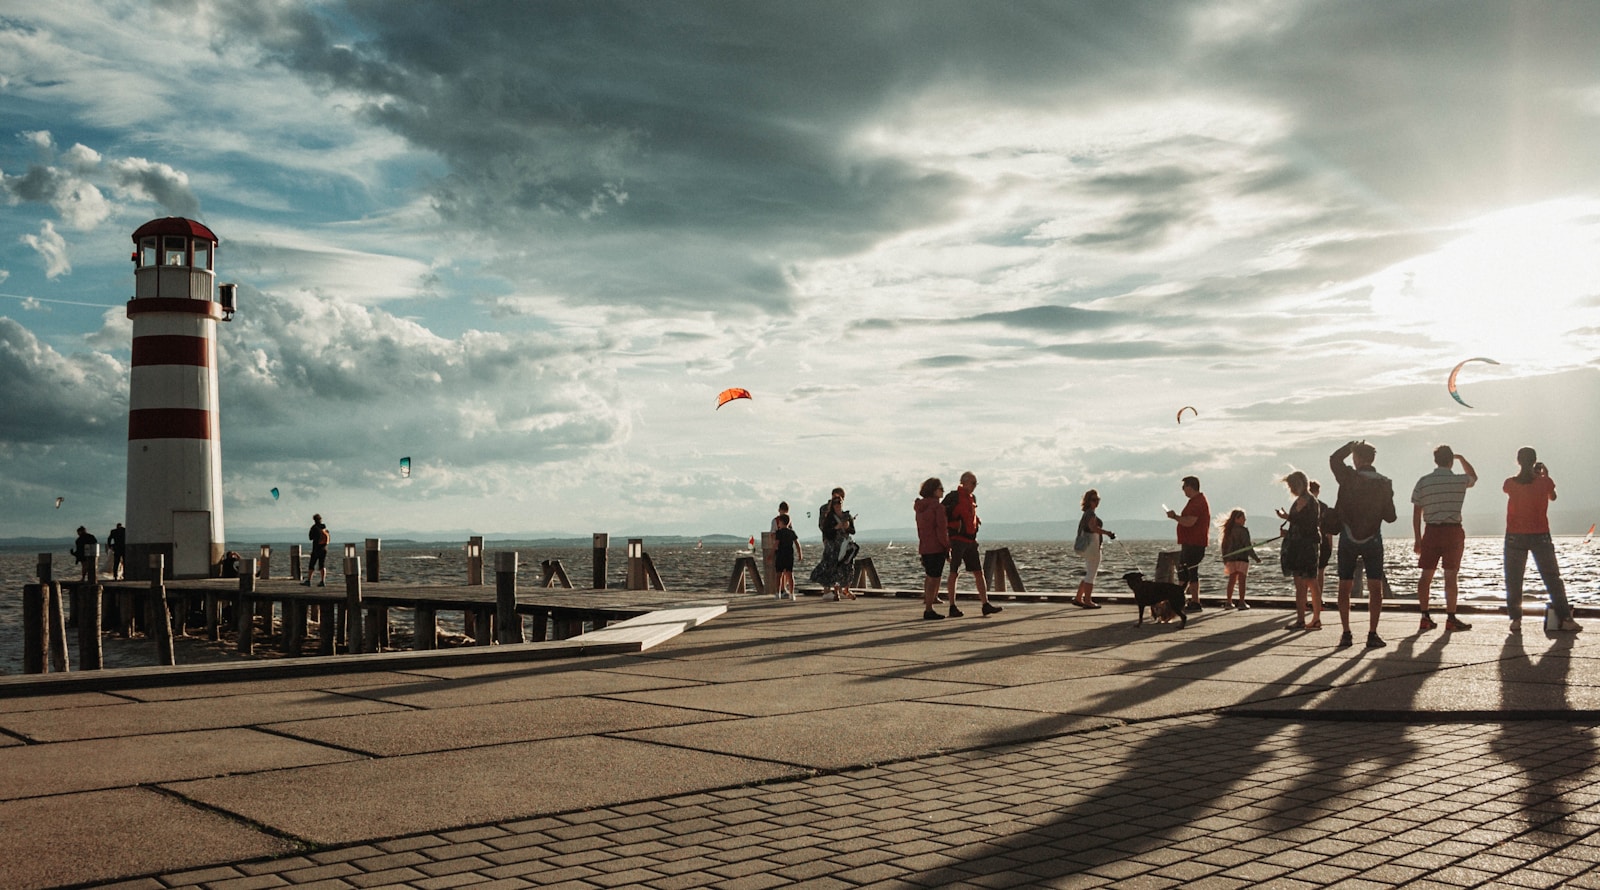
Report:
[[[896,528],[973,469],[990,522],[1109,525],[1192,472],[1259,538],[1360,437],[1402,493],[1454,445],[1491,517],[1534,445],[1582,533],[1597,43],[1587,2],[0,3],[0,536],[122,519],[160,216],[240,285],[230,530],[813,531],[834,485]]]

